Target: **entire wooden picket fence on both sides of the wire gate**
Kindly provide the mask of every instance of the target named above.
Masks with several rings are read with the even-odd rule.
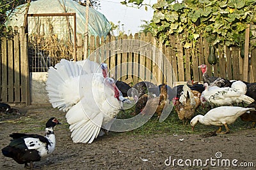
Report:
[[[0,99],[10,103],[30,103],[28,36],[24,28],[14,27],[10,38],[1,38],[1,88]],[[107,36],[106,39],[90,36],[88,58],[96,62],[106,62],[110,74],[116,80],[127,83],[151,81],[155,84],[170,81],[202,81],[198,66],[207,64],[208,73],[228,80],[244,80],[248,75],[250,82],[256,80],[256,50],[250,53],[249,62],[240,57],[239,48],[218,46],[218,62],[211,66],[207,62],[209,46],[199,38],[196,50],[183,47],[179,39],[171,37],[171,46],[163,46],[151,34]],[[81,34],[77,34],[77,60],[84,59],[84,46]],[[162,53],[163,52],[163,53]],[[87,58],[85,57],[85,58]],[[248,67],[248,69],[244,69]],[[248,70],[248,73],[244,73]]]

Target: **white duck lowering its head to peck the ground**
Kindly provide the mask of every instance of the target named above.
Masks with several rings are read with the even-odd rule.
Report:
[[[237,106],[220,106],[208,111],[204,116],[196,115],[191,121],[190,125],[192,131],[194,130],[197,122],[204,125],[216,125],[220,126],[216,133],[225,134],[229,132],[227,125],[232,124],[236,119],[244,113],[255,110],[255,108],[241,108]],[[221,126],[224,125],[226,128],[225,132],[221,132]]]

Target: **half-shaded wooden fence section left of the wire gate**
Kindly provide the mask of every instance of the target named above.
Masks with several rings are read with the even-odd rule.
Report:
[[[1,38],[0,100],[30,104],[28,36],[24,27],[14,27],[8,38]]]

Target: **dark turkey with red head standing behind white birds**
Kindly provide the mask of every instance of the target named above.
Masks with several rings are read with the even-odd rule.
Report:
[[[203,81],[204,83],[208,83],[209,86],[218,86],[218,87],[231,87],[231,82],[225,78],[221,77],[210,77],[207,74],[207,66],[205,64],[201,64],[198,66],[198,68],[201,68],[201,71],[203,73]]]

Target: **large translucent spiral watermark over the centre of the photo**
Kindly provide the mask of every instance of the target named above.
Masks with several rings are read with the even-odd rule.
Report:
[[[109,52],[111,52],[111,56],[109,56]],[[88,57],[89,59],[104,59],[104,60],[99,60],[98,62],[106,62],[106,60],[110,60],[111,62],[111,57],[115,57],[116,55],[120,55],[121,53],[134,53],[136,54],[136,56],[134,55],[133,57],[145,57],[145,60],[150,60],[150,62],[152,62],[152,64],[154,64],[155,67],[157,67],[157,74],[161,73],[161,75],[164,77],[164,79],[166,80],[166,84],[169,85],[170,87],[173,87],[173,82],[175,82],[175,74],[174,71],[172,69],[172,64],[170,63],[170,60],[167,59],[167,57],[164,56],[164,53],[161,52],[161,50],[159,50],[158,48],[156,48],[156,46],[145,42],[145,41],[139,41],[136,39],[122,39],[122,40],[117,40],[117,41],[112,41],[110,43],[106,43],[102,46],[100,46],[99,48],[97,48],[93,53],[90,54],[90,56]],[[151,55],[151,53],[154,53],[154,55]],[[99,55],[101,55],[99,57]],[[158,55],[156,57],[156,55]],[[159,60],[158,60],[159,59]],[[161,59],[161,60],[160,60]],[[138,59],[139,60],[139,59]],[[162,70],[163,67],[162,66],[162,62],[164,61],[164,66],[165,66],[165,70]],[[84,62],[84,66],[83,69],[86,70],[86,67],[88,67],[89,62]],[[115,63],[111,63],[111,65],[115,65]],[[92,66],[90,66],[92,67]],[[155,77],[152,73],[152,71],[150,71],[150,69],[148,69],[148,67],[145,66],[145,63],[138,63],[138,62],[134,62],[133,60],[127,61],[127,62],[122,62],[120,64],[117,64],[115,67],[111,67],[111,70],[109,70],[110,73],[115,73],[115,71],[119,71],[118,72],[118,77],[115,77],[116,80],[118,80],[118,78],[122,78],[122,76],[136,76],[138,78],[140,78],[141,80],[144,80],[143,77],[141,77],[141,73],[140,71],[134,71],[132,69],[129,69],[129,71],[125,71],[126,68],[131,68],[131,67],[138,67],[140,68],[140,71],[145,71],[145,74],[149,74],[151,76],[152,81],[157,81],[157,77]],[[168,70],[168,72],[167,72]],[[95,81],[99,80],[99,76],[97,76],[97,74],[99,74],[101,72],[100,67],[98,66],[97,69],[95,69],[95,76],[93,77],[91,83],[92,83],[92,87],[94,86],[93,83],[95,83]],[[144,72],[143,72],[144,73]],[[142,76],[144,76],[145,74],[143,74]],[[88,81],[88,83],[90,83],[90,81]],[[84,80],[81,79],[81,81],[79,82],[79,86],[82,87],[84,85]],[[104,91],[103,93],[106,93],[107,91]],[[138,94],[138,92],[135,92]],[[104,111],[106,112],[106,110],[104,110],[104,108],[102,108],[101,104],[102,103],[97,103],[97,98],[99,98],[99,92],[94,89],[92,89],[92,98],[91,99],[95,99],[94,103],[97,104],[97,108],[93,108],[93,110],[95,110],[95,112],[97,112],[97,110],[99,110],[100,112],[104,113]],[[104,96],[104,94],[102,94]],[[79,88],[79,96],[83,96],[83,88]],[[131,96],[134,97],[134,96]],[[116,101],[114,100],[109,100],[106,101],[108,104],[108,106],[112,106],[113,110],[118,109],[118,105],[116,105]],[[93,103],[93,101],[90,101],[90,103]],[[88,103],[81,103],[83,108],[88,108]],[[156,109],[157,109],[157,105],[155,104],[155,106],[152,106],[152,104],[150,106],[148,106],[148,104],[145,106],[144,110],[147,109],[147,107],[150,107],[150,110],[147,110],[147,114],[138,114],[132,118],[127,118],[127,119],[118,119],[118,118],[113,118],[111,116],[109,116],[108,114],[104,115],[104,118],[108,119],[108,122],[105,124],[99,124],[99,122],[97,123],[96,121],[93,122],[94,124],[99,124],[100,127],[108,130],[108,131],[115,131],[115,132],[125,132],[125,131],[131,131],[133,129],[136,129],[138,127],[140,127],[141,125],[145,124],[155,113]],[[166,104],[167,105],[167,104]],[[129,109],[130,107],[127,107],[126,109]],[[171,104],[171,106],[164,106],[164,109],[161,113],[161,116],[159,118],[159,122],[163,122],[168,115],[171,113],[173,108],[173,105]],[[103,109],[103,110],[102,110]],[[123,110],[125,110],[125,108],[122,108]],[[93,121],[93,118],[95,117],[95,114],[91,114],[91,113],[86,113],[86,109],[83,109],[84,114],[86,115],[86,117],[90,118],[90,120]],[[98,111],[98,112],[99,112]]]

